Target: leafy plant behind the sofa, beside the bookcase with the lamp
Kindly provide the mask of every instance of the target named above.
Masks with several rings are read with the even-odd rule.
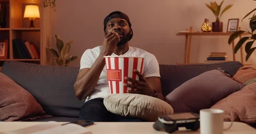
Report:
[[[70,46],[74,40],[64,44],[63,41],[58,37],[58,35],[55,34],[54,37],[56,40],[55,44],[58,48],[58,52],[51,47],[47,47],[47,49],[49,49],[53,53],[54,60],[57,65],[68,66],[68,63],[70,61],[77,59],[77,56],[69,56]]]

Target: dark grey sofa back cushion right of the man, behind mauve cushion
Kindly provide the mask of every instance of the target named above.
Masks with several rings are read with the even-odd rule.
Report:
[[[242,67],[242,64],[238,61],[228,61],[214,64],[159,65],[163,95],[166,96],[171,93],[189,79],[218,67],[233,77],[237,70]]]

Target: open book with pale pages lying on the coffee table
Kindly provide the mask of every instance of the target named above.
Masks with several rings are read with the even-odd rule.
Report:
[[[10,131],[10,132],[5,132],[5,134],[25,134],[25,133],[26,134],[27,133],[92,134],[92,132],[89,129],[79,126],[78,124],[69,123],[69,124],[61,125],[60,123],[55,121],[44,122],[44,123],[37,124],[35,126],[26,127],[26,128],[22,128],[22,129]]]

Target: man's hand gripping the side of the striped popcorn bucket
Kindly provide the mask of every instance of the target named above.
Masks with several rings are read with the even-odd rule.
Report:
[[[132,79],[129,77],[125,77],[127,81],[130,81],[134,83],[132,84],[124,84],[124,86],[131,87],[137,89],[137,91],[127,91],[127,93],[135,93],[135,94],[144,94],[148,96],[153,96],[154,95],[154,88],[147,82],[147,79],[138,72],[138,70],[134,69],[133,70],[138,76],[139,76],[139,81],[136,79]]]

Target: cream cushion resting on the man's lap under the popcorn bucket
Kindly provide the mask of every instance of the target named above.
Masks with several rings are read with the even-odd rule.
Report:
[[[173,113],[167,102],[141,94],[110,94],[103,102],[109,112],[147,121],[156,121],[162,114]]]

